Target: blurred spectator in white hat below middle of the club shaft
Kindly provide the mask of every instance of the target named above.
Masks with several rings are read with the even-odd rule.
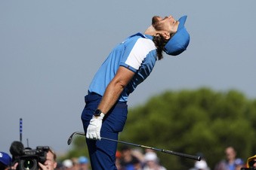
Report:
[[[165,167],[159,164],[159,158],[156,153],[150,151],[145,153],[145,165],[143,170],[166,170]]]

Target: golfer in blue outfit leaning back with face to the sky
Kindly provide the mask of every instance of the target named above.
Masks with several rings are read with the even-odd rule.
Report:
[[[94,75],[81,117],[92,169],[117,169],[117,143],[100,140],[100,136],[118,140],[127,119],[129,94],[150,75],[163,52],[177,56],[186,50],[190,43],[186,20],[187,16],[179,20],[153,17],[144,33],[114,47]]]

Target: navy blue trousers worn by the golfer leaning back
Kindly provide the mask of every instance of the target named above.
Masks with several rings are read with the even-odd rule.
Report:
[[[101,96],[96,93],[88,93],[85,96],[85,108],[82,111],[82,123],[87,131],[91,117],[100,103]],[[125,102],[117,102],[116,105],[105,115],[100,129],[100,136],[118,140],[119,132],[125,126],[127,119],[128,106]],[[116,170],[116,149],[117,142],[101,140],[89,140],[86,138],[91,168],[94,170]]]

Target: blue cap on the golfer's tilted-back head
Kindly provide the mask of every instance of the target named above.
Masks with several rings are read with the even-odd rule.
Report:
[[[190,34],[187,32],[184,24],[187,20],[187,15],[180,17],[179,26],[174,36],[165,44],[165,53],[171,56],[177,56],[187,49],[190,44]]]

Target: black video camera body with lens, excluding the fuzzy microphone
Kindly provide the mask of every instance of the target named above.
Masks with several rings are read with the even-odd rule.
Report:
[[[25,148],[23,150],[23,155],[17,156],[16,162],[18,162],[18,170],[37,170],[39,169],[39,163],[42,164],[46,160],[46,155],[48,153],[48,146],[38,146],[35,150],[30,148]]]

